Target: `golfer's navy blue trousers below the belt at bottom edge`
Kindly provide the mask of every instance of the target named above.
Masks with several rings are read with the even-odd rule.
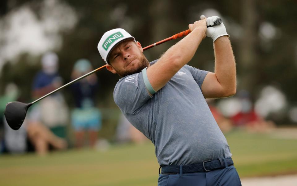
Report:
[[[211,170],[209,172],[179,174],[160,174],[158,186],[213,186],[232,185],[241,186],[239,175],[235,167]]]

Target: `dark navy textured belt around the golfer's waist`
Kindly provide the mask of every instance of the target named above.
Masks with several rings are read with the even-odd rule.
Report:
[[[214,169],[222,169],[227,168],[228,166],[233,165],[233,161],[230,158],[218,158],[217,160],[208,160],[200,164],[194,164],[194,165],[166,165],[166,166],[160,166],[159,168],[159,174],[160,169],[161,174],[163,173],[192,173],[192,172],[200,172],[205,171],[208,172],[210,170]]]

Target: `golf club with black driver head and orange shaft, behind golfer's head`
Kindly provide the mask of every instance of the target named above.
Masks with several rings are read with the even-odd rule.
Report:
[[[217,19],[216,22],[214,22],[213,26],[221,24],[221,23],[222,23],[222,20]],[[188,35],[190,32],[191,32],[190,30],[185,30],[183,32],[174,34],[173,36],[171,36],[169,38],[163,39],[162,41],[159,41],[159,42],[151,44],[151,45],[149,45],[147,47],[144,47],[143,50],[147,50],[149,48],[155,47],[155,46],[157,46],[159,44],[170,41],[172,39],[181,38],[183,36]],[[27,110],[32,104],[36,103],[37,101],[42,100],[43,98],[45,98],[45,97],[47,97],[47,96],[49,96],[51,94],[54,94],[55,92],[65,88],[66,86],[69,86],[69,85],[73,84],[76,81],[79,81],[80,79],[83,79],[83,78],[85,78],[85,77],[87,77],[87,76],[89,76],[89,75],[103,69],[104,67],[106,67],[106,64],[99,67],[98,69],[93,70],[92,72],[89,72],[89,73],[87,73],[87,74],[85,74],[85,75],[83,75],[83,76],[81,76],[81,77],[67,83],[66,85],[63,85],[63,86],[57,88],[56,90],[42,96],[41,98],[33,101],[32,103],[26,104],[26,103],[22,103],[22,102],[19,102],[19,101],[13,101],[13,102],[7,103],[6,107],[5,107],[4,115],[5,115],[5,118],[6,118],[6,121],[7,121],[8,125],[13,130],[18,130],[22,126],[22,124],[23,124],[23,122],[25,120],[26,114],[27,114]]]

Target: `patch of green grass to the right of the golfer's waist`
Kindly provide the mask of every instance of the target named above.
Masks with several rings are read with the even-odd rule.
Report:
[[[297,139],[243,132],[227,134],[226,138],[241,177],[297,172]]]

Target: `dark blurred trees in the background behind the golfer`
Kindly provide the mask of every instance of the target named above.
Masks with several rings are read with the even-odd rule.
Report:
[[[55,0],[50,0],[55,1]],[[58,0],[56,0],[58,1]],[[260,89],[276,85],[285,92],[290,102],[297,102],[296,83],[296,1],[119,1],[119,0],[60,0],[76,12],[75,28],[61,31],[62,46],[58,50],[60,74],[65,83],[70,81],[74,62],[80,58],[90,60],[94,68],[104,65],[97,44],[107,30],[124,28],[145,47],[175,33],[188,29],[188,24],[198,20],[201,12],[213,9],[222,14],[230,33],[239,80],[239,89],[247,89],[256,99]],[[39,15],[41,1],[3,0],[0,2],[0,20],[17,7],[28,5]],[[231,34],[232,33],[232,34]],[[270,35],[269,35],[270,34]],[[33,42],[33,41],[32,41]],[[177,41],[170,41],[145,51],[148,59],[155,60]],[[213,70],[214,57],[211,39],[206,38],[189,63],[200,69]],[[29,61],[35,61],[31,63]],[[24,97],[28,97],[34,72],[40,58],[26,55],[14,63],[7,63],[0,74],[0,85],[15,81]],[[117,109],[113,102],[113,88],[119,77],[107,70],[97,73],[101,89],[98,106]],[[24,78],[26,77],[26,78]],[[68,103],[71,104],[71,92]],[[112,116],[114,117],[114,116]]]

